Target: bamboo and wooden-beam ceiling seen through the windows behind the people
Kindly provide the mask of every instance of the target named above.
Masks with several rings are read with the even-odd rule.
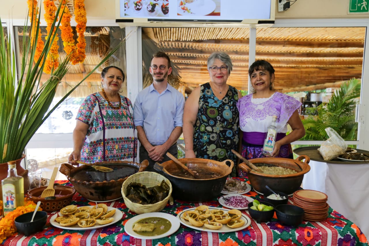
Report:
[[[144,28],[190,88],[209,80],[207,58],[225,51],[234,65],[228,83],[247,90],[249,28]],[[361,78],[365,28],[257,28],[256,59],[269,61],[282,92],[339,87]]]

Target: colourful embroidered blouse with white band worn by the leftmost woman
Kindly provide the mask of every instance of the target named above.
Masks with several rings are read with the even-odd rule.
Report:
[[[120,109],[112,109],[100,93],[89,95],[83,101],[76,119],[88,124],[89,129],[81,150],[80,161],[86,163],[133,161],[137,154],[137,136],[134,133],[132,103],[124,96],[121,96],[121,102]],[[112,103],[114,106],[119,105],[119,102]],[[104,142],[105,160],[103,160]]]

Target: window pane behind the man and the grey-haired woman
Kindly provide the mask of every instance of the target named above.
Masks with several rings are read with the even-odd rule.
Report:
[[[224,51],[233,63],[227,83],[247,90],[249,33],[249,28],[142,28],[143,87],[152,83],[148,68],[156,51],[165,51],[174,66],[169,83],[188,94],[209,82],[209,55]]]

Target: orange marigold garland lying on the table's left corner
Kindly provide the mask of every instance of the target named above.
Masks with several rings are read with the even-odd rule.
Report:
[[[8,237],[13,235],[14,232],[17,231],[15,228],[14,220],[20,215],[24,213],[33,212],[36,208],[36,204],[30,200],[24,198],[24,205],[16,208],[14,211],[8,213],[4,218],[0,221],[0,243]],[[42,210],[39,208],[38,210]]]

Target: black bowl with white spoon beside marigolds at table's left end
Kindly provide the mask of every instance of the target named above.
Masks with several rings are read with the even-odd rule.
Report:
[[[35,218],[30,222],[32,215],[33,212],[29,212],[15,218],[15,227],[17,231],[24,234],[24,236],[29,236],[35,232],[41,231],[46,224],[47,213],[45,211],[37,211]]]

